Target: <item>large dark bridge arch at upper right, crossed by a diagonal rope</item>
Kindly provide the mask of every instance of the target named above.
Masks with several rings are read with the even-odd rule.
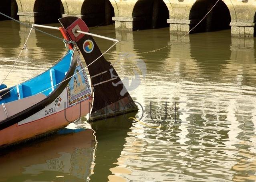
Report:
[[[217,0],[197,0],[189,12],[189,20],[199,22],[210,11]],[[193,32],[210,32],[230,29],[231,15],[228,6],[220,0]],[[194,27],[192,24],[190,28]]]

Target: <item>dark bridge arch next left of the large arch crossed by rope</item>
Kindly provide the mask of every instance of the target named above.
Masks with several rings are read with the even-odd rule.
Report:
[[[138,0],[132,12],[133,30],[168,27],[169,9],[163,0]]]

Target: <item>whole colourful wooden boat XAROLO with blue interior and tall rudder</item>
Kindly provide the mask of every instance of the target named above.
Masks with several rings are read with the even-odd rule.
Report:
[[[39,76],[11,88],[0,87],[0,146],[63,128],[89,113],[99,119],[138,110],[128,92],[120,94],[125,86],[85,22],[65,17],[60,23],[61,28],[34,26],[60,30],[69,41],[67,54]],[[91,85],[77,47],[85,58]]]

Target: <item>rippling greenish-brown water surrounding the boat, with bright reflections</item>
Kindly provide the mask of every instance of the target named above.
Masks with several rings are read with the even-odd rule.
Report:
[[[0,22],[0,80],[28,31]],[[178,42],[168,28],[115,32],[114,26],[102,26],[91,32],[122,40],[105,57],[119,76],[129,78],[130,94],[143,107],[144,112],[126,117],[143,114],[142,119],[81,121],[70,127],[91,129],[14,148],[0,156],[0,181],[256,180],[255,39],[231,38],[230,30],[191,34]],[[97,42],[102,51],[111,46]],[[39,32],[32,32],[27,46],[5,81],[8,86],[47,69],[66,52],[61,41]]]

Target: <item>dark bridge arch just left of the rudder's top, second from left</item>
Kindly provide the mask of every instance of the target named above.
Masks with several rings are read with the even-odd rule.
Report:
[[[56,23],[64,14],[61,0],[36,0],[33,8],[34,23]]]

